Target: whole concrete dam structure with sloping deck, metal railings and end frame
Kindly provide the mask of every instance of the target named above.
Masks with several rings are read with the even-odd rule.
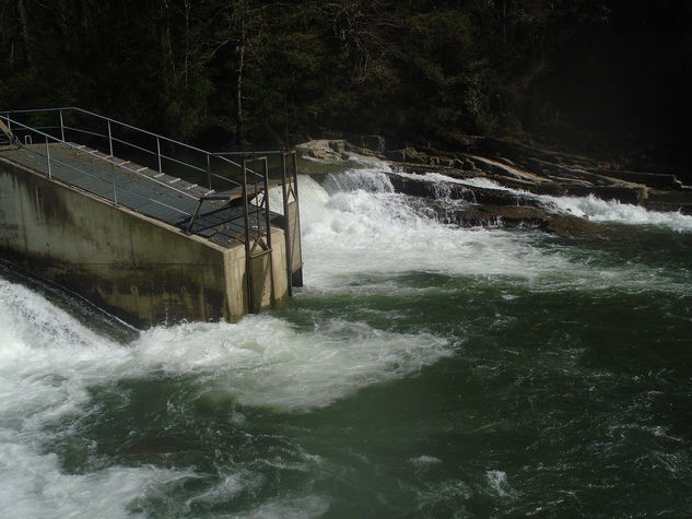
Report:
[[[295,152],[211,153],[73,107],[0,130],[1,261],[139,328],[237,321],[302,285]]]

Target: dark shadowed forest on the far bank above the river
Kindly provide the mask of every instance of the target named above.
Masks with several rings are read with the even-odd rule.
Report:
[[[382,134],[692,164],[692,2],[0,0],[0,109],[208,148]]]

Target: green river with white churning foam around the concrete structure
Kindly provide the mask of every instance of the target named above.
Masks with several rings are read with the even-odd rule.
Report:
[[[305,287],[235,325],[0,271],[2,515],[692,516],[692,217],[459,228],[386,167],[301,177]]]

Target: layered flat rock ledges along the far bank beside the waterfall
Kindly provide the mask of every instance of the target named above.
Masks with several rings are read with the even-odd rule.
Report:
[[[544,196],[593,196],[692,214],[692,187],[672,174],[620,170],[587,157],[490,138],[468,138],[462,148],[387,150],[377,137],[297,146],[302,156],[322,165],[367,157],[388,161],[397,192],[425,200],[426,210],[441,221],[462,226],[535,227],[560,236],[608,232],[601,224],[556,211]]]

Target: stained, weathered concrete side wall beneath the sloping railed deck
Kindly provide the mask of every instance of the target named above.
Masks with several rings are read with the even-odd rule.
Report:
[[[238,320],[244,246],[224,248],[0,158],[0,258],[137,327]],[[272,300],[269,262],[262,306]],[[272,228],[273,299],[288,294],[283,231]]]

